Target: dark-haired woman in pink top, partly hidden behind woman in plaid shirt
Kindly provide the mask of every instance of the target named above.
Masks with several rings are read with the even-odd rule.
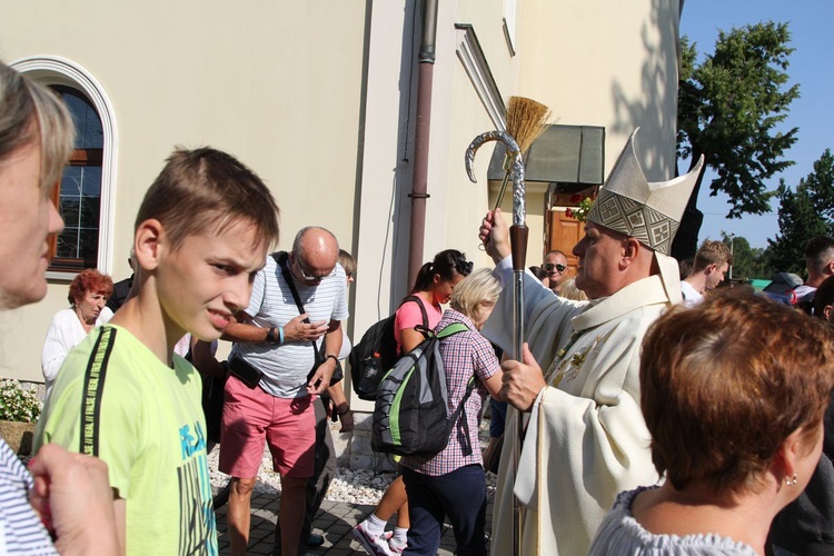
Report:
[[[420,267],[409,294],[419,301],[404,301],[394,319],[394,337],[399,355],[409,353],[425,339],[416,328],[425,325],[424,311],[428,328],[437,326],[443,316],[441,305],[449,302],[455,286],[469,276],[473,262],[466,260],[466,256],[457,249],[440,251]],[[385,526],[395,513],[397,526],[391,535],[385,532]],[[406,546],[408,526],[408,497],[400,475],[388,486],[376,510],[354,528],[354,536],[368,554],[400,554]]]

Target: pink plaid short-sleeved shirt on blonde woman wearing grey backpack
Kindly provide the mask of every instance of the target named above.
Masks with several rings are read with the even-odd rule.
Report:
[[[484,399],[488,393],[484,380],[500,370],[495,350],[485,337],[475,328],[471,320],[455,309],[447,309],[435,330],[440,330],[453,322],[463,322],[470,331],[459,332],[440,341],[440,357],[446,369],[446,388],[448,389],[449,415],[460,405],[466,394],[466,384],[475,375],[478,379],[475,390],[466,401],[466,419],[469,424],[469,444],[473,453],[464,456],[464,427],[461,418],[451,433],[449,444],[434,456],[407,456],[403,465],[411,470],[433,477],[446,475],[466,465],[484,465],[480,455],[478,425],[484,409]],[[463,415],[463,413],[461,413]]]

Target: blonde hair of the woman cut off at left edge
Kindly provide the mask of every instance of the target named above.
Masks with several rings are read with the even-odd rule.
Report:
[[[73,138],[72,118],[56,93],[0,62],[0,161],[38,141],[39,185],[48,191],[63,172]]]

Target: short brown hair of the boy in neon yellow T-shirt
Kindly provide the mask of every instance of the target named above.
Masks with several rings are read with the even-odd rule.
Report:
[[[203,147],[177,148],[145,193],[135,229],[155,218],[176,250],[199,231],[250,221],[257,238],[278,241],[279,209],[264,181],[231,155]]]

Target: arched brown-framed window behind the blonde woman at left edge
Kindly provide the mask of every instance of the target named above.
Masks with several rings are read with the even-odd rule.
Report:
[[[90,100],[80,91],[53,86],[76,125],[76,143],[53,200],[63,217],[63,231],[53,239],[50,270],[79,271],[98,266],[101,218],[103,130]]]

